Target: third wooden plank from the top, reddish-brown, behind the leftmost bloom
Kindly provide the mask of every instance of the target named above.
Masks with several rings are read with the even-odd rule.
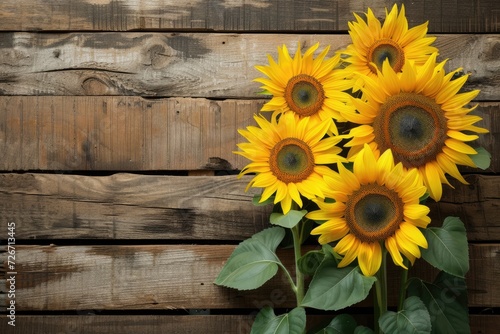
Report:
[[[233,153],[245,141],[237,129],[255,125],[264,102],[0,96],[0,170],[241,170],[249,160]],[[474,112],[490,129],[477,146],[497,152],[500,102]],[[499,171],[493,154],[488,172]]]

